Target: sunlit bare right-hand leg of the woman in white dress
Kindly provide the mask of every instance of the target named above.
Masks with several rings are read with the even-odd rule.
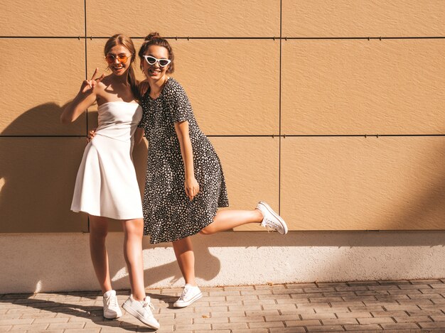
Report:
[[[144,260],[142,258],[142,236],[144,233],[143,219],[129,219],[122,221],[124,229],[124,257],[135,300],[144,300]]]

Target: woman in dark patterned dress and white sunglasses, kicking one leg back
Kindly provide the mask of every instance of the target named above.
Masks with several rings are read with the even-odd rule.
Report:
[[[286,234],[287,226],[265,202],[253,210],[223,210],[227,190],[223,170],[208,138],[196,124],[181,84],[168,77],[174,70],[173,50],[158,33],[145,38],[139,50],[144,110],[139,127],[149,141],[144,191],[144,234],[151,243],[173,242],[186,280],[175,307],[202,296],[195,282],[193,234],[214,234],[247,223],[261,223]],[[138,131],[141,138],[141,131]],[[136,134],[137,135],[137,134]],[[136,138],[137,140],[137,138]]]

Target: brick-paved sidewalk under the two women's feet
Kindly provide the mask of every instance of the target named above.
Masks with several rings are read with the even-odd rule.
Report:
[[[181,289],[147,289],[157,332],[445,332],[445,279],[202,288],[172,307]],[[128,290],[118,292],[119,302]],[[123,311],[124,312],[124,311]],[[0,332],[154,332],[124,312],[102,317],[97,292],[0,295]]]

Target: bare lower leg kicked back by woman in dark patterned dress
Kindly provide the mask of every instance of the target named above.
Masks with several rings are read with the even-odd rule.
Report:
[[[263,214],[259,209],[254,210],[220,210],[213,218],[213,222],[200,231],[200,234],[210,235],[225,231],[235,226],[247,223],[261,223]]]

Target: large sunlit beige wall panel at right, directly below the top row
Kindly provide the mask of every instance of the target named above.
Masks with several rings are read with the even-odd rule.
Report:
[[[445,132],[443,40],[282,46],[282,133]]]

